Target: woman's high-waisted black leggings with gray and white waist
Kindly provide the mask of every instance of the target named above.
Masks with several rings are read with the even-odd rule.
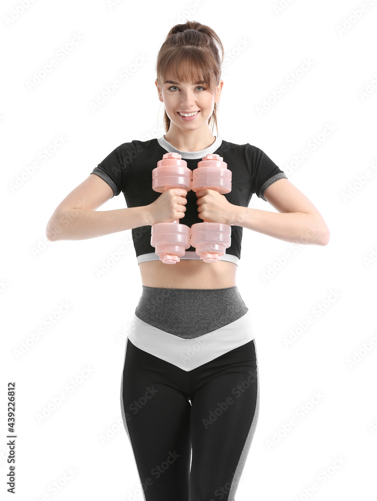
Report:
[[[171,332],[160,329],[166,314],[160,310],[163,292],[165,306],[171,305],[172,294],[183,300],[177,305],[174,298],[176,309],[169,319],[176,320],[171,324],[176,327],[169,325]],[[237,288],[143,287],[144,293],[149,301],[136,309],[144,320],[135,315],[131,323],[121,382],[122,417],[144,499],[234,501],[259,413],[257,354],[247,308]],[[192,309],[183,307],[182,314],[187,294],[207,305],[207,320],[203,295],[216,295],[226,311],[236,294],[246,313],[239,310],[238,318],[228,323],[225,316],[221,327],[194,336],[203,307],[198,302],[195,316],[188,319]],[[191,325],[185,338],[179,320],[181,326]],[[215,320],[218,325],[218,314]]]

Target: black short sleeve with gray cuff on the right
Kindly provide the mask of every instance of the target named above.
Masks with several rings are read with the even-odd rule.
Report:
[[[251,182],[252,193],[255,193],[259,198],[267,201],[264,198],[264,192],[272,183],[278,179],[287,179],[285,173],[269,158],[264,151],[256,146],[251,146]]]

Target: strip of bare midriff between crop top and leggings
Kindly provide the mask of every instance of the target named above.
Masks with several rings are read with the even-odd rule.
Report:
[[[237,265],[230,261],[205,263],[201,259],[181,259],[167,265],[160,260],[139,263],[145,287],[166,289],[225,289],[236,285]]]

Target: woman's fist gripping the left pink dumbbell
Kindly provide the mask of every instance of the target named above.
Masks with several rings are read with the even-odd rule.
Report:
[[[173,222],[185,216],[187,190],[169,188],[148,205],[152,225],[158,222]]]

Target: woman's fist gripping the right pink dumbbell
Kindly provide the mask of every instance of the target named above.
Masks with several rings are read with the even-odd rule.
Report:
[[[234,224],[237,205],[228,202],[224,195],[213,189],[201,189],[196,192],[198,217],[205,222]]]

